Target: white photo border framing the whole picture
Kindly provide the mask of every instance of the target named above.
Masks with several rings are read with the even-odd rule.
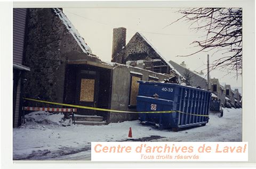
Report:
[[[255,116],[255,2],[246,1],[41,1],[0,2],[0,125],[3,168],[166,168],[166,167],[253,167],[256,163]],[[12,160],[12,9],[13,7],[242,7],[243,8],[243,141],[249,142],[249,162],[90,162]],[[2,17],[3,16],[3,17]],[[155,164],[155,165],[152,165]]]

